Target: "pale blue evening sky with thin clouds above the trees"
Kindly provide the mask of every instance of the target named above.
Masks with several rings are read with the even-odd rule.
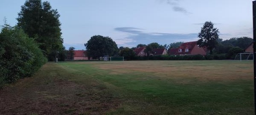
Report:
[[[85,49],[94,35],[108,36],[117,46],[136,47],[198,40],[206,21],[214,23],[219,38],[253,38],[253,0],[42,0],[61,15],[66,49]],[[0,0],[0,25],[4,17],[17,24],[25,0]]]

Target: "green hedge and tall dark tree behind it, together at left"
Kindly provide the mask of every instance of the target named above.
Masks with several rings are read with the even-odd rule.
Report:
[[[26,0],[17,25],[7,20],[0,32],[0,87],[32,76],[44,63],[65,59],[60,14],[49,2]]]

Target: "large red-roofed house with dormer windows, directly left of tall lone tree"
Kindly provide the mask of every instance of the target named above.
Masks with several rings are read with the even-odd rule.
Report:
[[[175,55],[206,55],[207,49],[199,47],[197,41],[182,43]]]

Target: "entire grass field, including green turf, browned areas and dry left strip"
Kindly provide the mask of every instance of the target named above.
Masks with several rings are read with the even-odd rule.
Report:
[[[14,109],[5,97],[15,92],[34,106]],[[252,115],[253,61],[47,63],[0,90],[0,101],[9,107],[0,114]]]

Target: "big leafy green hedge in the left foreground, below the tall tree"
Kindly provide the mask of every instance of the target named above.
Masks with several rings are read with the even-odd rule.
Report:
[[[0,33],[0,86],[30,77],[47,59],[22,29],[5,24]]]

